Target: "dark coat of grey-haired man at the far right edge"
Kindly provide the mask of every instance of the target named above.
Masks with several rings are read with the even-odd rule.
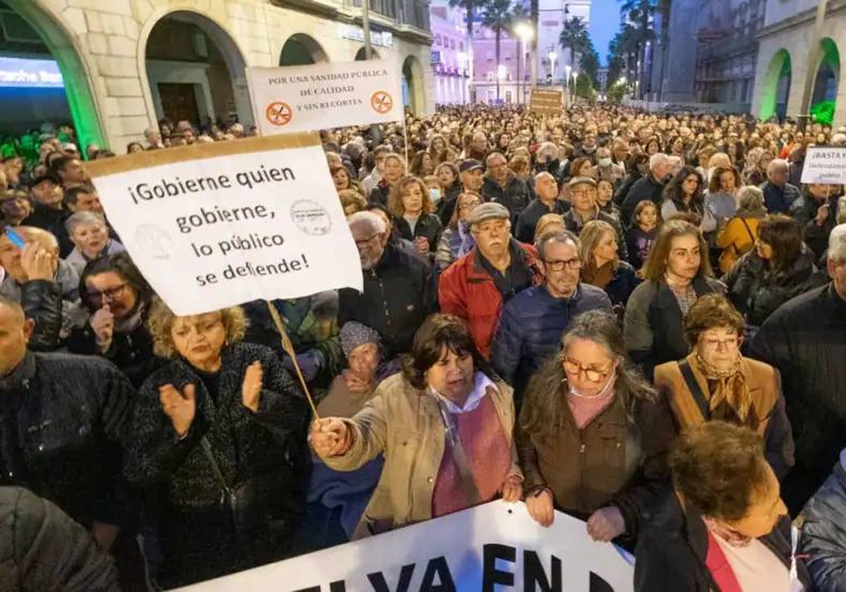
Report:
[[[846,447],[846,301],[832,284],[788,300],[755,334],[751,350],[781,372],[796,463],[807,473],[804,503]]]

